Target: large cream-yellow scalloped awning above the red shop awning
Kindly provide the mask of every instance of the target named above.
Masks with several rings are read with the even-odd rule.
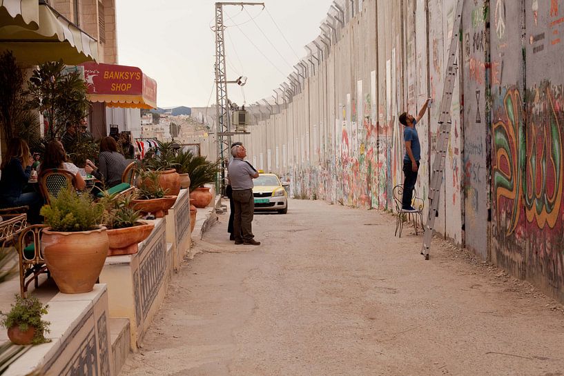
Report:
[[[46,3],[39,4],[39,28],[0,27],[0,51],[12,50],[17,61],[39,65],[58,61],[76,65],[98,57],[98,42]]]

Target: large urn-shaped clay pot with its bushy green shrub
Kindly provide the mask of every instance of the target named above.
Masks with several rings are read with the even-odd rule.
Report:
[[[94,288],[109,248],[106,227],[100,225],[103,213],[104,206],[69,188],[41,208],[48,226],[41,251],[61,293],[88,293]]]

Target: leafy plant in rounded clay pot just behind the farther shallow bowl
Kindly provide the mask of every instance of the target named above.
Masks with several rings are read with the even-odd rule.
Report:
[[[149,157],[143,160],[144,168],[157,171],[159,184],[173,196],[177,196],[180,192],[180,177],[175,163],[175,153],[178,147],[174,141],[157,140],[157,146],[151,148]]]

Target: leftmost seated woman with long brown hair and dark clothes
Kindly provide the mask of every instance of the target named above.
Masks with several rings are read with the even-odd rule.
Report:
[[[1,165],[0,206],[2,208],[29,206],[28,221],[32,224],[40,224],[39,210],[43,206],[43,197],[38,192],[22,192],[30,179],[32,163],[30,148],[26,141],[12,139]]]

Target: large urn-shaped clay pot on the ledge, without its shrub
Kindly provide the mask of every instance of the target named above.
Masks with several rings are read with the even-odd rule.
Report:
[[[61,293],[88,293],[98,279],[110,241],[106,228],[79,232],[43,230],[41,251]]]

